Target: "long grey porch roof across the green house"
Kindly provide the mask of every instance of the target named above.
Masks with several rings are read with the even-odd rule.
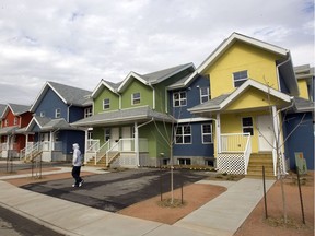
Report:
[[[74,127],[96,127],[102,125],[115,125],[122,122],[133,122],[133,121],[148,121],[148,120],[158,120],[172,122],[174,118],[153,110],[149,106],[142,106],[137,108],[127,108],[121,110],[107,111],[102,114],[96,114],[85,119],[81,119],[71,123]]]

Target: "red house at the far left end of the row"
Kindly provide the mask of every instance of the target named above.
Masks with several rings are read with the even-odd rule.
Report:
[[[0,156],[2,158],[20,157],[27,143],[33,142],[32,134],[23,134],[32,118],[30,106],[8,104],[1,117]]]

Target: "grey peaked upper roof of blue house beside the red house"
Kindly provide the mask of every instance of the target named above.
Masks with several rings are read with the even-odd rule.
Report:
[[[86,104],[86,101],[89,101],[92,94],[91,91],[47,81],[44,87],[42,88],[39,95],[35,99],[35,103],[31,107],[31,111],[33,113],[35,111],[36,107],[38,106],[38,104],[40,103],[40,101],[46,95],[46,92],[49,88],[51,88],[65,104],[82,107],[86,105],[92,105],[92,103]]]

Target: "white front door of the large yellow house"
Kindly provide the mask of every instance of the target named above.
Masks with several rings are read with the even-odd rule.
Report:
[[[272,118],[269,115],[257,117],[257,130],[259,152],[271,152],[275,140]]]

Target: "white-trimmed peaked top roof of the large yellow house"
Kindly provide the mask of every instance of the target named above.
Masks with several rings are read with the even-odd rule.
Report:
[[[226,50],[229,50],[235,42],[243,42],[271,54],[281,56],[282,59],[278,61],[277,67],[283,75],[284,83],[290,93],[295,96],[299,95],[299,86],[293,71],[290,50],[235,32],[232,33],[229,38],[223,40],[219,47],[215,48],[215,50],[197,68],[197,73],[205,73],[205,71],[211,67]]]

